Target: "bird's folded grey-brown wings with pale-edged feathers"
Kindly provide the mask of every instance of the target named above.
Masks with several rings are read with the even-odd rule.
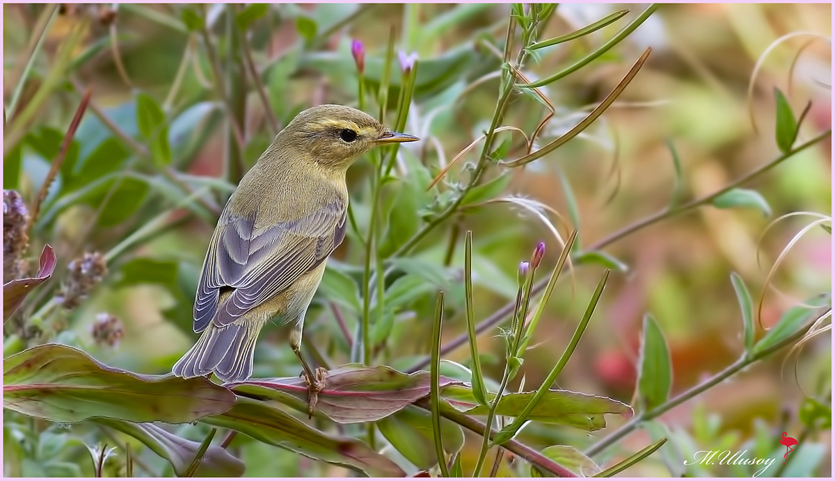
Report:
[[[195,298],[195,332],[232,323],[316,268],[342,243],[347,204],[334,199],[292,221],[256,228],[252,217],[222,216],[209,243]],[[220,303],[220,289],[234,289]]]

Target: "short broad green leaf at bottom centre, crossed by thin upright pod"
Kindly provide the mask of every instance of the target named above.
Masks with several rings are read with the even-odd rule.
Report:
[[[417,468],[429,469],[438,464],[432,419],[426,409],[407,406],[377,421],[377,427],[383,437]],[[458,424],[442,418],[441,433],[444,451],[454,456],[463,446],[463,431]]]

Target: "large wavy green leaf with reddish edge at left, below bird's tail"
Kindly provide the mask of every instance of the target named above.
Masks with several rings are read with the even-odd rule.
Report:
[[[43,344],[3,360],[3,407],[53,422],[104,416],[191,423],[233,403],[233,393],[207,378],[129,373],[61,344]]]

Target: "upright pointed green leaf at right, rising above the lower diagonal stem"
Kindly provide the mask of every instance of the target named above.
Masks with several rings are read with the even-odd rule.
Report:
[[[638,403],[646,412],[670,398],[673,378],[670,349],[667,347],[664,333],[650,314],[644,316],[643,331],[640,343]]]

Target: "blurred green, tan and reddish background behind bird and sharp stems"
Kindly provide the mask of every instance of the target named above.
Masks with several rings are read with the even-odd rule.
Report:
[[[75,135],[77,160],[72,172],[62,171],[53,184],[27,255],[35,258],[43,243],[56,249],[59,268],[48,284],[52,288],[68,277],[68,261],[85,252],[103,253],[107,273],[78,308],[48,313],[37,332],[6,326],[7,336],[18,336],[18,348],[46,341],[69,343],[111,366],[140,373],[168,372],[196,338],[190,329],[191,303],[216,219],[206,206],[222,205],[234,187],[225,168],[232,138],[230,108],[240,120],[241,159],[248,168],[276,133],[273,120],[281,128],[301,109],[319,103],[356,107],[352,41],[362,42],[368,65],[381,63],[393,32],[398,52],[417,53],[416,89],[404,130],[422,138],[421,143],[402,147],[400,164],[419,159],[435,175],[488,127],[497,98],[494,73],[501,66],[497,53],[504,48],[510,13],[508,5],[271,5],[245,30],[239,26],[240,38],[235,40],[225,30],[225,14],[231,7],[224,5],[67,5],[49,24],[28,68],[30,39],[44,8],[3,6],[7,109],[13,98],[17,98],[15,113],[37,106],[19,137],[11,139],[18,142],[4,145],[3,187],[18,190],[32,205],[54,147],[89,88],[91,103]],[[560,5],[544,28],[543,39],[622,8],[630,13],[620,23],[536,51],[525,65],[525,75],[532,80],[545,78],[582,58],[644,8]],[[211,48],[200,31],[189,29],[192,17],[208,24]],[[553,208],[559,216],[545,211],[549,222],[562,236],[568,225],[579,228],[578,243],[587,247],[665,208],[676,183],[684,198],[723,188],[779,157],[774,140],[775,88],[785,94],[796,114],[811,102],[798,143],[831,127],[831,19],[831,5],[826,4],[663,5],[616,48],[540,88],[555,108],[538,140],[542,145],[579,122],[620,82],[645,48],[652,48],[645,66],[602,118],[554,153],[525,168],[511,169],[507,175],[512,179],[502,194]],[[236,42],[241,38],[249,44],[261,88],[251,81],[243,50],[230,56],[231,49],[240,49]],[[218,95],[213,56],[219,59],[225,87],[240,93],[231,105]],[[65,66],[60,72],[53,68],[57,63]],[[752,78],[755,68],[757,76]],[[16,93],[24,71],[28,79]],[[369,100],[377,85],[371,74],[368,83],[373,94],[367,92],[367,111],[376,114],[377,104]],[[49,88],[40,98],[45,84]],[[266,103],[259,90],[266,93]],[[137,121],[139,95],[154,99],[164,113],[171,149],[167,162],[164,155],[159,160],[153,139],[143,136]],[[397,97],[390,98],[393,103]],[[546,113],[534,96],[514,93],[502,124],[530,133]],[[391,110],[387,116],[393,120]],[[5,141],[8,134],[7,129]],[[498,139],[512,140],[506,160],[524,153],[518,134],[499,133]],[[671,146],[681,161],[680,176]],[[465,165],[475,161],[479,148],[480,144],[464,154],[445,181],[466,180]],[[371,168],[363,160],[349,174],[361,226],[367,225]],[[398,168],[405,172],[402,165]],[[770,283],[767,277],[810,218],[797,216],[769,226],[787,213],[831,215],[831,168],[827,138],[742,186],[762,194],[770,208],[765,215],[757,208],[699,208],[607,245],[604,252],[623,263],[625,270],[610,275],[559,387],[630,403],[646,313],[658,320],[669,343],[674,394],[735,361],[741,354],[742,323],[731,272],[744,279],[755,303],[764,295],[758,337],[787,308],[828,292],[831,236],[822,228],[799,238]],[[495,178],[504,172],[492,165],[486,175]],[[407,178],[415,185],[419,180]],[[205,205],[184,207],[182,199],[200,189],[205,189],[200,194]],[[440,192],[445,190],[442,187]],[[397,198],[391,193],[384,196],[383,205],[394,202]],[[426,209],[431,206],[416,205],[413,215],[420,218]],[[162,227],[151,228],[151,235],[138,243],[114,249],[152,223]],[[535,243],[546,243],[543,276],[560,250],[545,223],[511,203],[468,208],[429,233],[410,258],[448,266],[444,272],[453,287],[448,291],[443,331],[447,341],[465,329],[463,283],[455,275],[460,276],[463,268],[466,230],[473,231],[476,249],[477,319],[513,300],[517,266],[529,258]],[[392,242],[397,245],[397,239]],[[349,236],[333,264],[342,272],[355,272],[362,269],[364,255],[357,237]],[[561,278],[530,343],[523,368],[525,385],[539,386],[545,378],[574,332],[603,268],[599,263],[578,264],[572,275]],[[437,288],[432,283],[413,286],[416,294],[395,316],[376,363],[407,368],[429,352],[428,326]],[[339,365],[351,360],[351,352],[330,300],[326,293],[317,294],[315,308],[308,313],[306,337],[331,365]],[[33,304],[26,312],[39,307]],[[115,320],[103,324],[102,313]],[[357,316],[343,314],[353,330]],[[498,329],[493,328],[482,335],[479,346],[486,373],[498,379],[504,345],[496,334]],[[8,355],[14,349],[4,350]],[[758,437],[772,439],[777,446],[782,431],[797,437],[804,429],[798,420],[803,399],[830,403],[831,352],[831,336],[824,332],[799,353],[777,353],[665,413],[657,421],[666,426],[673,442],[625,474],[677,476],[686,468],[681,458],[690,459],[691,451],[741,449]],[[467,364],[468,355],[465,344],[444,358]],[[281,329],[262,333],[256,376],[289,376],[297,371]],[[582,449],[623,422],[612,417],[610,428],[593,437],[532,425],[521,438],[534,446],[564,443]],[[193,439],[198,439],[200,427],[192,429]],[[657,438],[639,429],[608,456],[634,452]],[[467,456],[475,456],[475,440],[473,436],[465,448],[465,465],[473,462]],[[805,467],[798,466],[793,474],[831,475],[831,430],[813,430],[805,444],[790,455],[807,456]],[[344,473],[259,443],[236,440],[232,448],[245,459],[248,476]],[[56,456],[71,458],[73,449],[62,448]],[[33,462],[43,455],[33,454]],[[152,453],[144,455],[154,458]],[[702,468],[687,473],[750,475],[742,472],[744,468]]]

